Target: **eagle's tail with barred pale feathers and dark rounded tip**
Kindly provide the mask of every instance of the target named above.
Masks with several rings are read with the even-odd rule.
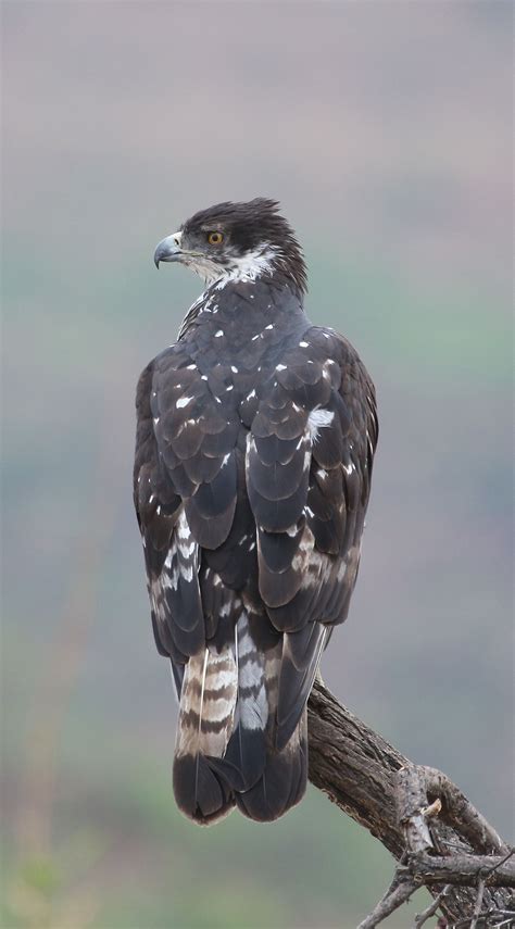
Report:
[[[304,795],[307,781],[307,716],[300,712],[288,741],[278,745],[277,704],[286,637],[263,618],[242,613],[234,641],[189,660],[180,694],[174,759],[178,807],[200,824],[234,806],[267,823]],[[261,627],[261,628],[260,628]]]

